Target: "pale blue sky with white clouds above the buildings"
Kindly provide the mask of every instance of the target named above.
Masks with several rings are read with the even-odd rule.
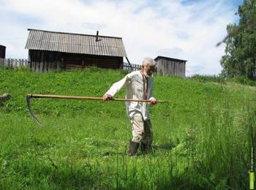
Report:
[[[6,58],[27,58],[28,28],[121,37],[132,64],[145,57],[187,60],[186,75],[219,75],[226,26],[243,0],[0,0]],[[125,58],[124,58],[124,61]]]

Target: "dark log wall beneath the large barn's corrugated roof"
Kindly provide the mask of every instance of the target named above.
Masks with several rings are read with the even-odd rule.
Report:
[[[98,66],[106,69],[120,69],[121,65],[123,64],[123,58],[29,50],[29,63],[31,70],[34,72],[84,69],[86,66]]]

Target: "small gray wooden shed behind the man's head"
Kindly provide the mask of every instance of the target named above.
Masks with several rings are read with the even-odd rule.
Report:
[[[187,61],[164,56],[157,56],[154,60],[157,61],[157,74],[185,77]]]

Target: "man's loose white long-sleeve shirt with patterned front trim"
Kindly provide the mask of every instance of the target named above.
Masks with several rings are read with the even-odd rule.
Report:
[[[143,99],[143,77],[140,71],[131,72],[117,83],[114,83],[106,94],[114,96],[121,88],[126,88],[127,92],[125,97],[127,99]],[[152,88],[153,77],[148,77],[147,99],[149,100],[154,98],[152,96]],[[126,107],[129,118],[133,118],[135,115],[142,115],[145,121],[149,119],[146,102],[126,102]]]

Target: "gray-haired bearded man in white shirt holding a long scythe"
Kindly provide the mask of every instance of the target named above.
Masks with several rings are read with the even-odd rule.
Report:
[[[157,99],[152,96],[153,77],[156,61],[152,58],[144,58],[140,71],[131,72],[123,79],[114,83],[105,93],[103,100],[113,99],[113,96],[126,88],[127,99],[148,99],[149,104],[156,104]],[[132,123],[132,140],[129,141],[129,156],[135,155],[139,144],[143,153],[151,147],[153,132],[147,102],[126,102],[127,115]]]

